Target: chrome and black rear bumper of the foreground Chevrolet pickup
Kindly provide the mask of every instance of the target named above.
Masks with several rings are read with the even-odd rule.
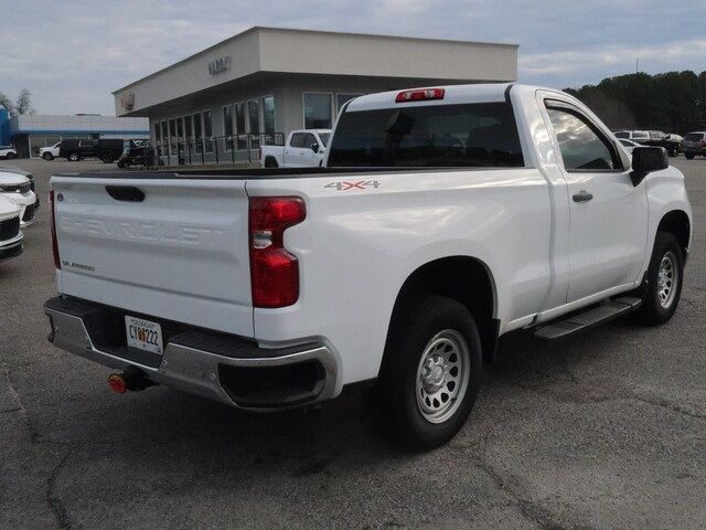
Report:
[[[164,353],[141,352],[125,346],[99,346],[113,308],[83,300],[52,298],[44,305],[50,318],[49,340],[57,348],[110,368],[138,369],[150,381],[221,401],[240,409],[271,411],[331,399],[335,395],[338,364],[323,344],[264,349],[243,339],[186,330],[167,338]],[[146,317],[149,318],[149,317]],[[159,319],[154,319],[159,320]],[[115,328],[115,326],[114,326]],[[132,351],[130,351],[132,350]],[[133,353],[139,353],[135,356]],[[304,369],[297,371],[298,368]],[[244,375],[234,377],[239,369]],[[292,371],[293,370],[293,371]],[[293,386],[255,391],[246,395],[238,381],[272,373],[277,381],[291,379]],[[304,373],[310,384],[301,384]],[[267,386],[267,385],[266,385]]]

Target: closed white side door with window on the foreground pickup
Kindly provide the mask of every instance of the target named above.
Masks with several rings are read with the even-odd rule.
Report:
[[[640,280],[645,256],[645,184],[632,184],[620,148],[586,113],[559,99],[545,99],[545,107],[568,187],[567,303],[627,290]]]

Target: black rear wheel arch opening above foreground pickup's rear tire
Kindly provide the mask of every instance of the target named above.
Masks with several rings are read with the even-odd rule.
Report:
[[[456,255],[420,265],[407,276],[397,293],[393,319],[405,300],[414,295],[445,296],[466,306],[473,315],[481,336],[483,360],[492,361],[500,331],[498,290],[493,274],[483,261]]]

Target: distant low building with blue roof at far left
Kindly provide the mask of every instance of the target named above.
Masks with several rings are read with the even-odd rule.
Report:
[[[36,157],[41,147],[53,146],[65,138],[148,139],[146,118],[121,118],[97,115],[20,115],[10,116],[0,108],[0,145],[13,145],[20,158]]]

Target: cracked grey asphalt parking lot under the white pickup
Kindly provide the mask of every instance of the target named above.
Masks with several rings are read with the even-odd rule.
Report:
[[[42,209],[0,264],[0,529],[705,528],[706,159],[673,163],[696,234],[674,319],[509,337],[461,433],[411,455],[355,392],[272,415],[110,393],[109,369],[47,343],[42,311],[49,177],[106,166],[13,161]]]

